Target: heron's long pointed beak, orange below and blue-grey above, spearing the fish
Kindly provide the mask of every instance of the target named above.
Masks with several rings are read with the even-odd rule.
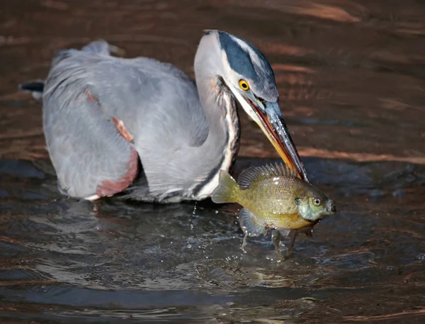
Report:
[[[254,121],[266,134],[285,164],[295,169],[300,179],[309,182],[304,164],[302,164],[297,148],[290,137],[278,103],[258,101],[257,99],[254,101],[250,96],[244,96],[244,99],[255,113]]]

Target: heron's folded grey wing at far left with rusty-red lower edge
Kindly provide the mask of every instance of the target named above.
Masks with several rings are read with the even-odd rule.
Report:
[[[96,98],[86,65],[73,60],[77,50],[61,51],[43,94],[43,127],[58,187],[69,196],[95,199],[128,187],[139,159],[131,141]],[[106,42],[83,48],[87,57],[108,57]]]

